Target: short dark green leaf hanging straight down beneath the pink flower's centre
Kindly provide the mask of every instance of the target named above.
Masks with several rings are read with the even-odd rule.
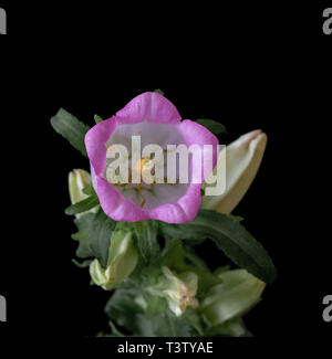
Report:
[[[154,220],[137,222],[135,233],[144,261],[156,261],[159,253],[159,244],[157,241],[158,222]]]

